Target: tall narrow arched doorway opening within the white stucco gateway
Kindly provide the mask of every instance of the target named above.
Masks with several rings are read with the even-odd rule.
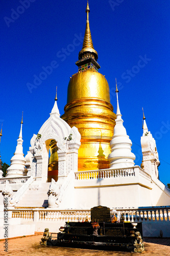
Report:
[[[58,181],[58,147],[56,140],[51,140],[49,146],[48,174],[47,182],[52,179]]]

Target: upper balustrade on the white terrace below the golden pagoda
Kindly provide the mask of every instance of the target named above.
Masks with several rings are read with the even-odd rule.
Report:
[[[84,170],[82,172],[75,172],[76,180],[109,179],[109,178],[116,178],[116,177],[132,177],[132,176],[135,176],[134,168]]]

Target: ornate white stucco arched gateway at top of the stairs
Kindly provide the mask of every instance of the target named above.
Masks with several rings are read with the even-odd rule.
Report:
[[[31,147],[26,156],[26,166],[30,175],[47,180],[48,150],[51,140],[56,140],[58,147],[58,178],[63,179],[69,172],[78,169],[78,149],[81,135],[76,127],[70,127],[63,119],[55,101],[50,117],[38,132],[39,138],[33,136]]]

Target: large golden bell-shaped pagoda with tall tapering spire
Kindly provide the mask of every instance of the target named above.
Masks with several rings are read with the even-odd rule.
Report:
[[[76,62],[78,73],[70,78],[65,113],[61,116],[71,127],[76,126],[81,134],[79,170],[109,168],[107,157],[111,152],[109,143],[116,119],[108,82],[98,72],[100,65],[91,39],[89,12],[87,1],[83,48]]]

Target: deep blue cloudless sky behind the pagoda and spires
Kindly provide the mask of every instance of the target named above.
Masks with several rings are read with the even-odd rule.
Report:
[[[75,62],[82,49],[81,35],[84,36],[86,26],[86,0],[29,0],[29,4],[25,2],[27,9],[19,7],[21,2],[24,1],[2,0],[0,3],[1,155],[2,161],[8,164],[15,152],[22,111],[25,155],[33,134],[38,133],[49,117],[56,86],[60,114],[64,113],[69,77],[78,71]],[[117,4],[114,6],[113,2]],[[160,180],[170,183],[170,2],[89,0],[89,7],[93,45],[101,65],[99,72],[108,80],[114,112],[117,78],[120,111],[133,142],[135,163],[140,165],[142,160],[143,107],[148,128],[157,141]],[[80,40],[75,39],[77,37]],[[70,46],[72,44],[76,46]],[[65,48],[69,51],[61,56],[60,51]],[[144,56],[149,59],[145,65],[139,62]],[[57,68],[46,75],[37,88],[29,90],[27,84],[34,84],[34,75],[39,76],[42,67],[54,60]],[[138,64],[140,67],[136,67]],[[131,70],[134,72],[130,73]]]

